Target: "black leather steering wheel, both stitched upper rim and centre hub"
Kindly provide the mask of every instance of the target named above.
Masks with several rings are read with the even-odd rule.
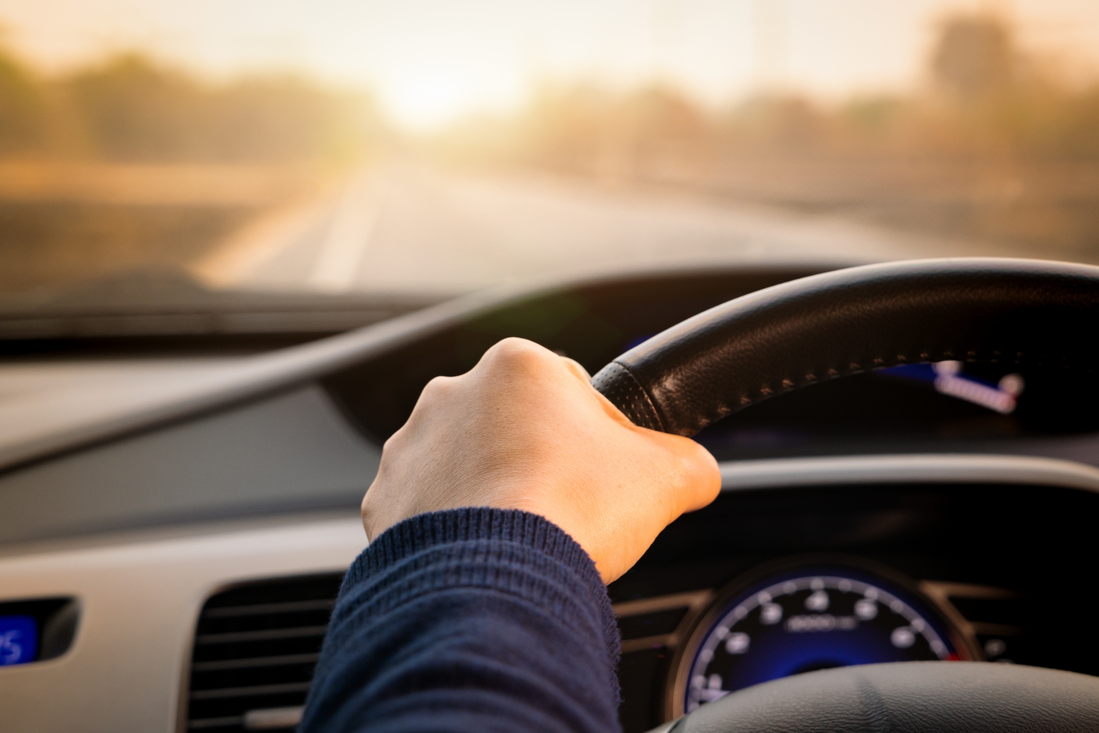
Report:
[[[635,424],[693,435],[775,395],[956,359],[1094,373],[1099,267],[957,258],[869,265],[731,300],[622,354],[591,382]],[[728,695],[675,733],[1099,730],[1099,678],[906,662],[808,673]]]

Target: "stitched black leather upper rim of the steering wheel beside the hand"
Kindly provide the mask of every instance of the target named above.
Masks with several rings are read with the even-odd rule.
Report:
[[[1094,371],[1099,267],[957,258],[814,275],[699,313],[591,382],[634,423],[693,435],[791,389],[944,359]]]

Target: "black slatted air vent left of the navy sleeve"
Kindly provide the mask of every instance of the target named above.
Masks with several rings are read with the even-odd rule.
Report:
[[[293,731],[342,578],[254,582],[210,598],[195,634],[187,730]]]

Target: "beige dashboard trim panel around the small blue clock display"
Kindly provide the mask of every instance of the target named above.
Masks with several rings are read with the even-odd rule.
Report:
[[[62,657],[0,667],[0,726],[36,733],[175,733],[195,620],[227,585],[343,571],[366,546],[347,519],[0,559],[0,599],[74,596]]]

